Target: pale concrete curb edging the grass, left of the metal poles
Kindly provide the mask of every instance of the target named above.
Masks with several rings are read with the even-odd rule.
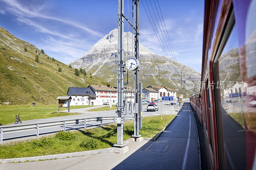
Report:
[[[25,158],[11,158],[11,159],[0,159],[0,164],[4,163],[16,163],[16,162],[28,162],[28,161],[37,161],[37,160],[51,160],[51,159],[60,159],[60,158],[69,158],[85,155],[95,155],[98,153],[110,152],[111,148],[98,149],[92,151],[82,151],[82,152],[72,152],[72,153],[61,153],[55,155],[44,155],[44,156],[35,156],[35,157],[25,157]]]

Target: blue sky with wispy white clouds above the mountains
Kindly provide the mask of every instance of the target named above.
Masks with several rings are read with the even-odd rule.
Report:
[[[141,1],[145,6],[147,2],[151,15],[155,18],[150,2],[155,9],[154,1],[158,8],[157,0]],[[158,2],[177,61],[201,72],[203,0]],[[132,0],[128,3],[131,18]],[[124,4],[124,14],[127,16],[127,0],[124,0]],[[117,28],[118,0],[0,0],[0,6],[1,27],[66,64],[82,57],[97,41]],[[165,55],[142,3],[139,14],[139,42],[154,53]],[[160,13],[159,15],[161,18]],[[158,27],[156,19],[155,23]],[[124,25],[126,32],[126,22]],[[162,28],[161,24],[160,26]],[[131,27],[129,31],[132,31]]]

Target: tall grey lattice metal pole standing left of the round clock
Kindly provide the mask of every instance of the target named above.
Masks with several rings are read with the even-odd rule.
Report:
[[[117,117],[121,119],[117,122],[117,146],[124,146],[123,144],[123,117],[124,112],[122,108],[124,107],[124,67],[123,67],[123,57],[124,57],[124,0],[118,0],[118,85],[117,85]]]

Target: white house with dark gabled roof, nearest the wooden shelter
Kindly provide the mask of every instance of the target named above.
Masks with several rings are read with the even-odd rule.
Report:
[[[91,88],[68,87],[68,96],[71,96],[70,106],[75,105],[95,105],[96,94]]]

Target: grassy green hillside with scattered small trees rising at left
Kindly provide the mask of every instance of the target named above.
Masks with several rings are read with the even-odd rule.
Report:
[[[24,48],[27,51],[24,51]],[[37,50],[37,53],[36,53]],[[38,55],[39,63],[35,61]],[[47,59],[49,57],[49,59]],[[61,72],[58,71],[59,67]],[[22,41],[0,27],[0,104],[50,104],[66,95],[68,87],[107,85],[90,75],[74,75],[74,68],[42,54],[41,49]]]

